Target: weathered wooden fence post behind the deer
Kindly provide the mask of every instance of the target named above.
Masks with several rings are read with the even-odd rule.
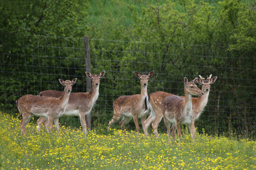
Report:
[[[89,36],[85,35],[84,36],[84,43],[85,43],[85,70],[86,72],[91,73],[91,68],[90,68],[90,45],[89,45]],[[91,79],[86,77],[86,92],[91,91]],[[86,115],[86,124],[89,129],[92,128],[92,113],[89,113]]]

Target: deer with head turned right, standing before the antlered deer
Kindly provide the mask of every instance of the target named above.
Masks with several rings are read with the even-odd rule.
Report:
[[[188,123],[190,126],[189,130],[191,135],[193,134],[193,109],[192,109],[192,95],[193,96],[202,96],[203,92],[198,89],[195,82],[197,79],[193,81],[188,81],[188,79],[184,78],[184,93],[185,98],[182,96],[171,95],[164,98],[163,103],[161,104],[161,110],[164,115],[164,123],[167,128],[169,142],[170,139],[170,128],[171,123],[174,123],[173,129],[171,131],[171,135],[173,136],[174,142],[175,139],[175,131],[177,128],[178,131],[178,143],[181,143],[181,123]],[[193,136],[192,136],[193,137]]]

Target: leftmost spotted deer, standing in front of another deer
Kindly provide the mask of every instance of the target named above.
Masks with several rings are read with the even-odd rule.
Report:
[[[72,81],[66,80],[63,81],[59,79],[60,84],[65,86],[62,95],[58,98],[53,97],[41,97],[36,95],[27,94],[18,98],[16,101],[16,106],[18,108],[18,112],[20,113],[18,116],[22,115],[22,120],[20,123],[21,132],[23,135],[27,135],[26,133],[26,125],[31,120],[33,115],[43,116],[46,120],[46,130],[47,132],[51,132],[53,129],[53,120],[54,123],[65,111],[65,108],[68,104],[68,99],[70,98],[70,93],[72,91],[72,86],[77,81],[77,78]]]

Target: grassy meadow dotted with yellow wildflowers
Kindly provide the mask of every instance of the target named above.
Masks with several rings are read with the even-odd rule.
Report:
[[[166,134],[96,128],[85,136],[68,126],[38,134],[33,121],[23,137],[17,116],[0,115],[0,169],[256,169],[256,142],[247,139],[198,134],[194,144],[184,130],[181,145],[170,145]]]

